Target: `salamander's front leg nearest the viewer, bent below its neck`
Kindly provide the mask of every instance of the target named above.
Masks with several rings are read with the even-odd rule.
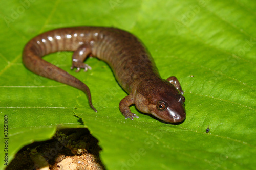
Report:
[[[132,113],[129,106],[134,104],[134,98],[132,95],[127,95],[125,98],[123,98],[119,103],[119,109],[125,119],[130,118],[133,120],[134,117],[139,118],[136,114]]]

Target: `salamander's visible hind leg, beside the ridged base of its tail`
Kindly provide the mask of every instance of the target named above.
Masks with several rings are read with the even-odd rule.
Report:
[[[84,60],[86,60],[86,58],[91,53],[92,53],[92,48],[90,45],[82,44],[81,46],[79,46],[72,56],[71,69],[77,68],[76,72],[79,72],[81,68],[83,68],[84,71],[87,71],[88,69],[92,69],[89,65],[83,63]]]

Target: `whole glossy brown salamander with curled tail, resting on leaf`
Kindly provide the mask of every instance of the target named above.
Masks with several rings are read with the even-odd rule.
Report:
[[[23,63],[37,75],[73,86],[87,94],[91,108],[91,93],[86,84],[66,71],[42,59],[57,51],[74,51],[72,69],[90,69],[83,61],[94,56],[112,68],[118,83],[129,94],[120,101],[125,118],[138,118],[130,105],[150,113],[165,122],[182,122],[185,117],[183,91],[176,77],[161,79],[150,53],[140,40],[123,30],[104,27],[61,28],[42,33],[30,40],[23,51]]]

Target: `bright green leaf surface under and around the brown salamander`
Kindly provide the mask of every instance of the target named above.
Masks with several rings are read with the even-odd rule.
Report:
[[[103,148],[108,169],[253,169],[256,165],[254,1],[5,1],[0,6],[0,156],[51,138],[57,125],[87,127]],[[176,76],[187,117],[179,125],[151,116],[126,120],[127,94],[108,65],[95,58],[88,72],[70,70],[70,52],[45,59],[85,82],[81,91],[27,70],[22,50],[32,37],[59,27],[108,26],[130,31],[152,53],[162,78]],[[83,121],[80,123],[80,118]],[[205,129],[210,128],[206,133]],[[0,168],[5,165],[2,161]]]

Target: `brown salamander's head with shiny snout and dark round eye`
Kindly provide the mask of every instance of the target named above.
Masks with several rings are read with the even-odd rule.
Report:
[[[135,100],[135,105],[141,112],[151,113],[170,123],[182,122],[186,118],[185,98],[169,82],[140,88],[136,93],[139,100]]]

